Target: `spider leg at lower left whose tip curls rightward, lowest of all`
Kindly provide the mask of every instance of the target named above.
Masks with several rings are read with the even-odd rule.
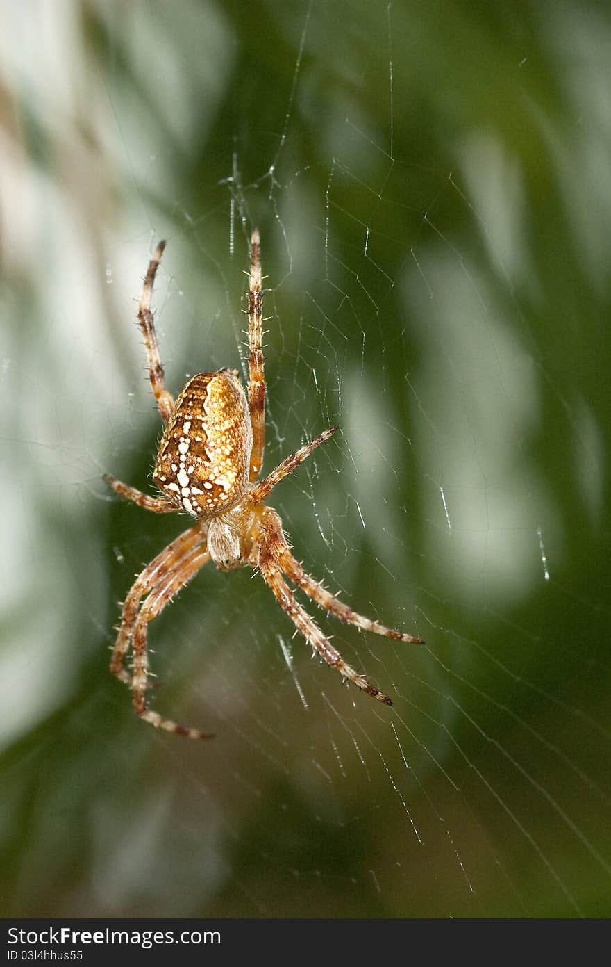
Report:
[[[204,547],[193,547],[179,561],[179,563],[165,575],[164,580],[150,593],[140,608],[133,630],[133,676],[131,689],[133,707],[137,716],[150,722],[155,728],[162,728],[166,732],[187,736],[189,739],[212,739],[209,732],[199,729],[186,728],[170,718],[163,718],[158,712],[147,708],[146,690],[149,675],[149,659],[147,652],[147,625],[153,621],[165,605],[181,590],[182,587],[208,563],[210,555]]]

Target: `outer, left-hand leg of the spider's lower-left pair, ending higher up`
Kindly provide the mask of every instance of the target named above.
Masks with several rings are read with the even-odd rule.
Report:
[[[121,614],[121,627],[110,662],[110,670],[113,675],[116,675],[126,685],[131,685],[131,675],[125,670],[125,655],[138,615],[140,599],[163,582],[168,571],[181,560],[181,557],[187,551],[204,540],[205,535],[202,533],[202,527],[199,523],[189,527],[187,531],[184,531],[180,537],[169,543],[160,554],[153,558],[151,564],[147,565],[144,571],[138,575],[129,589]]]

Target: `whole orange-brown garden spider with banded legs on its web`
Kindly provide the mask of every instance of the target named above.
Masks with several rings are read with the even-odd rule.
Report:
[[[165,242],[159,242],[149,263],[138,307],[138,321],[149,359],[154,398],[165,425],[153,481],[162,493],[151,497],[128,484],[104,475],[115,493],[154,513],[190,513],[195,523],[157,554],[136,578],[125,598],[121,626],[110,670],[131,687],[136,715],[152,725],[192,739],[209,739],[198,729],[185,728],[148,708],[149,663],[147,625],[174,595],[212,560],[221,571],[250,565],[259,569],[276,600],[296,629],[328,664],[385,705],[391,700],[351,668],[308,612],[295,600],[293,584],[337,618],[387,638],[421,644],[422,639],[385,628],[352,611],[307,574],[292,556],[278,514],[264,500],[283,477],[292,473],[321,443],[337,430],[329,426],[315,440],[288,456],[259,481],[264,455],[263,292],[259,232],[251,237],[248,293],[248,400],[236,369],[218,369],[193,376],[179,398],[165,389],[163,368],[153,326],[151,297],[154,277]],[[144,601],[142,599],[144,598]],[[125,669],[131,646],[133,672]]]

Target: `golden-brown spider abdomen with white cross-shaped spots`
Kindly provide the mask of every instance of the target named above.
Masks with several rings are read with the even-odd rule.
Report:
[[[252,446],[248,401],[236,370],[200,372],[176,401],[153,481],[187,513],[224,513],[248,487]]]

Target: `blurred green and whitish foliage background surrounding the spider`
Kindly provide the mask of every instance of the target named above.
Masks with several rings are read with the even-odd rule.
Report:
[[[0,14],[2,913],[608,916],[611,13],[552,2],[14,3]],[[170,389],[241,366],[295,554],[424,648],[210,566],[107,671]]]

